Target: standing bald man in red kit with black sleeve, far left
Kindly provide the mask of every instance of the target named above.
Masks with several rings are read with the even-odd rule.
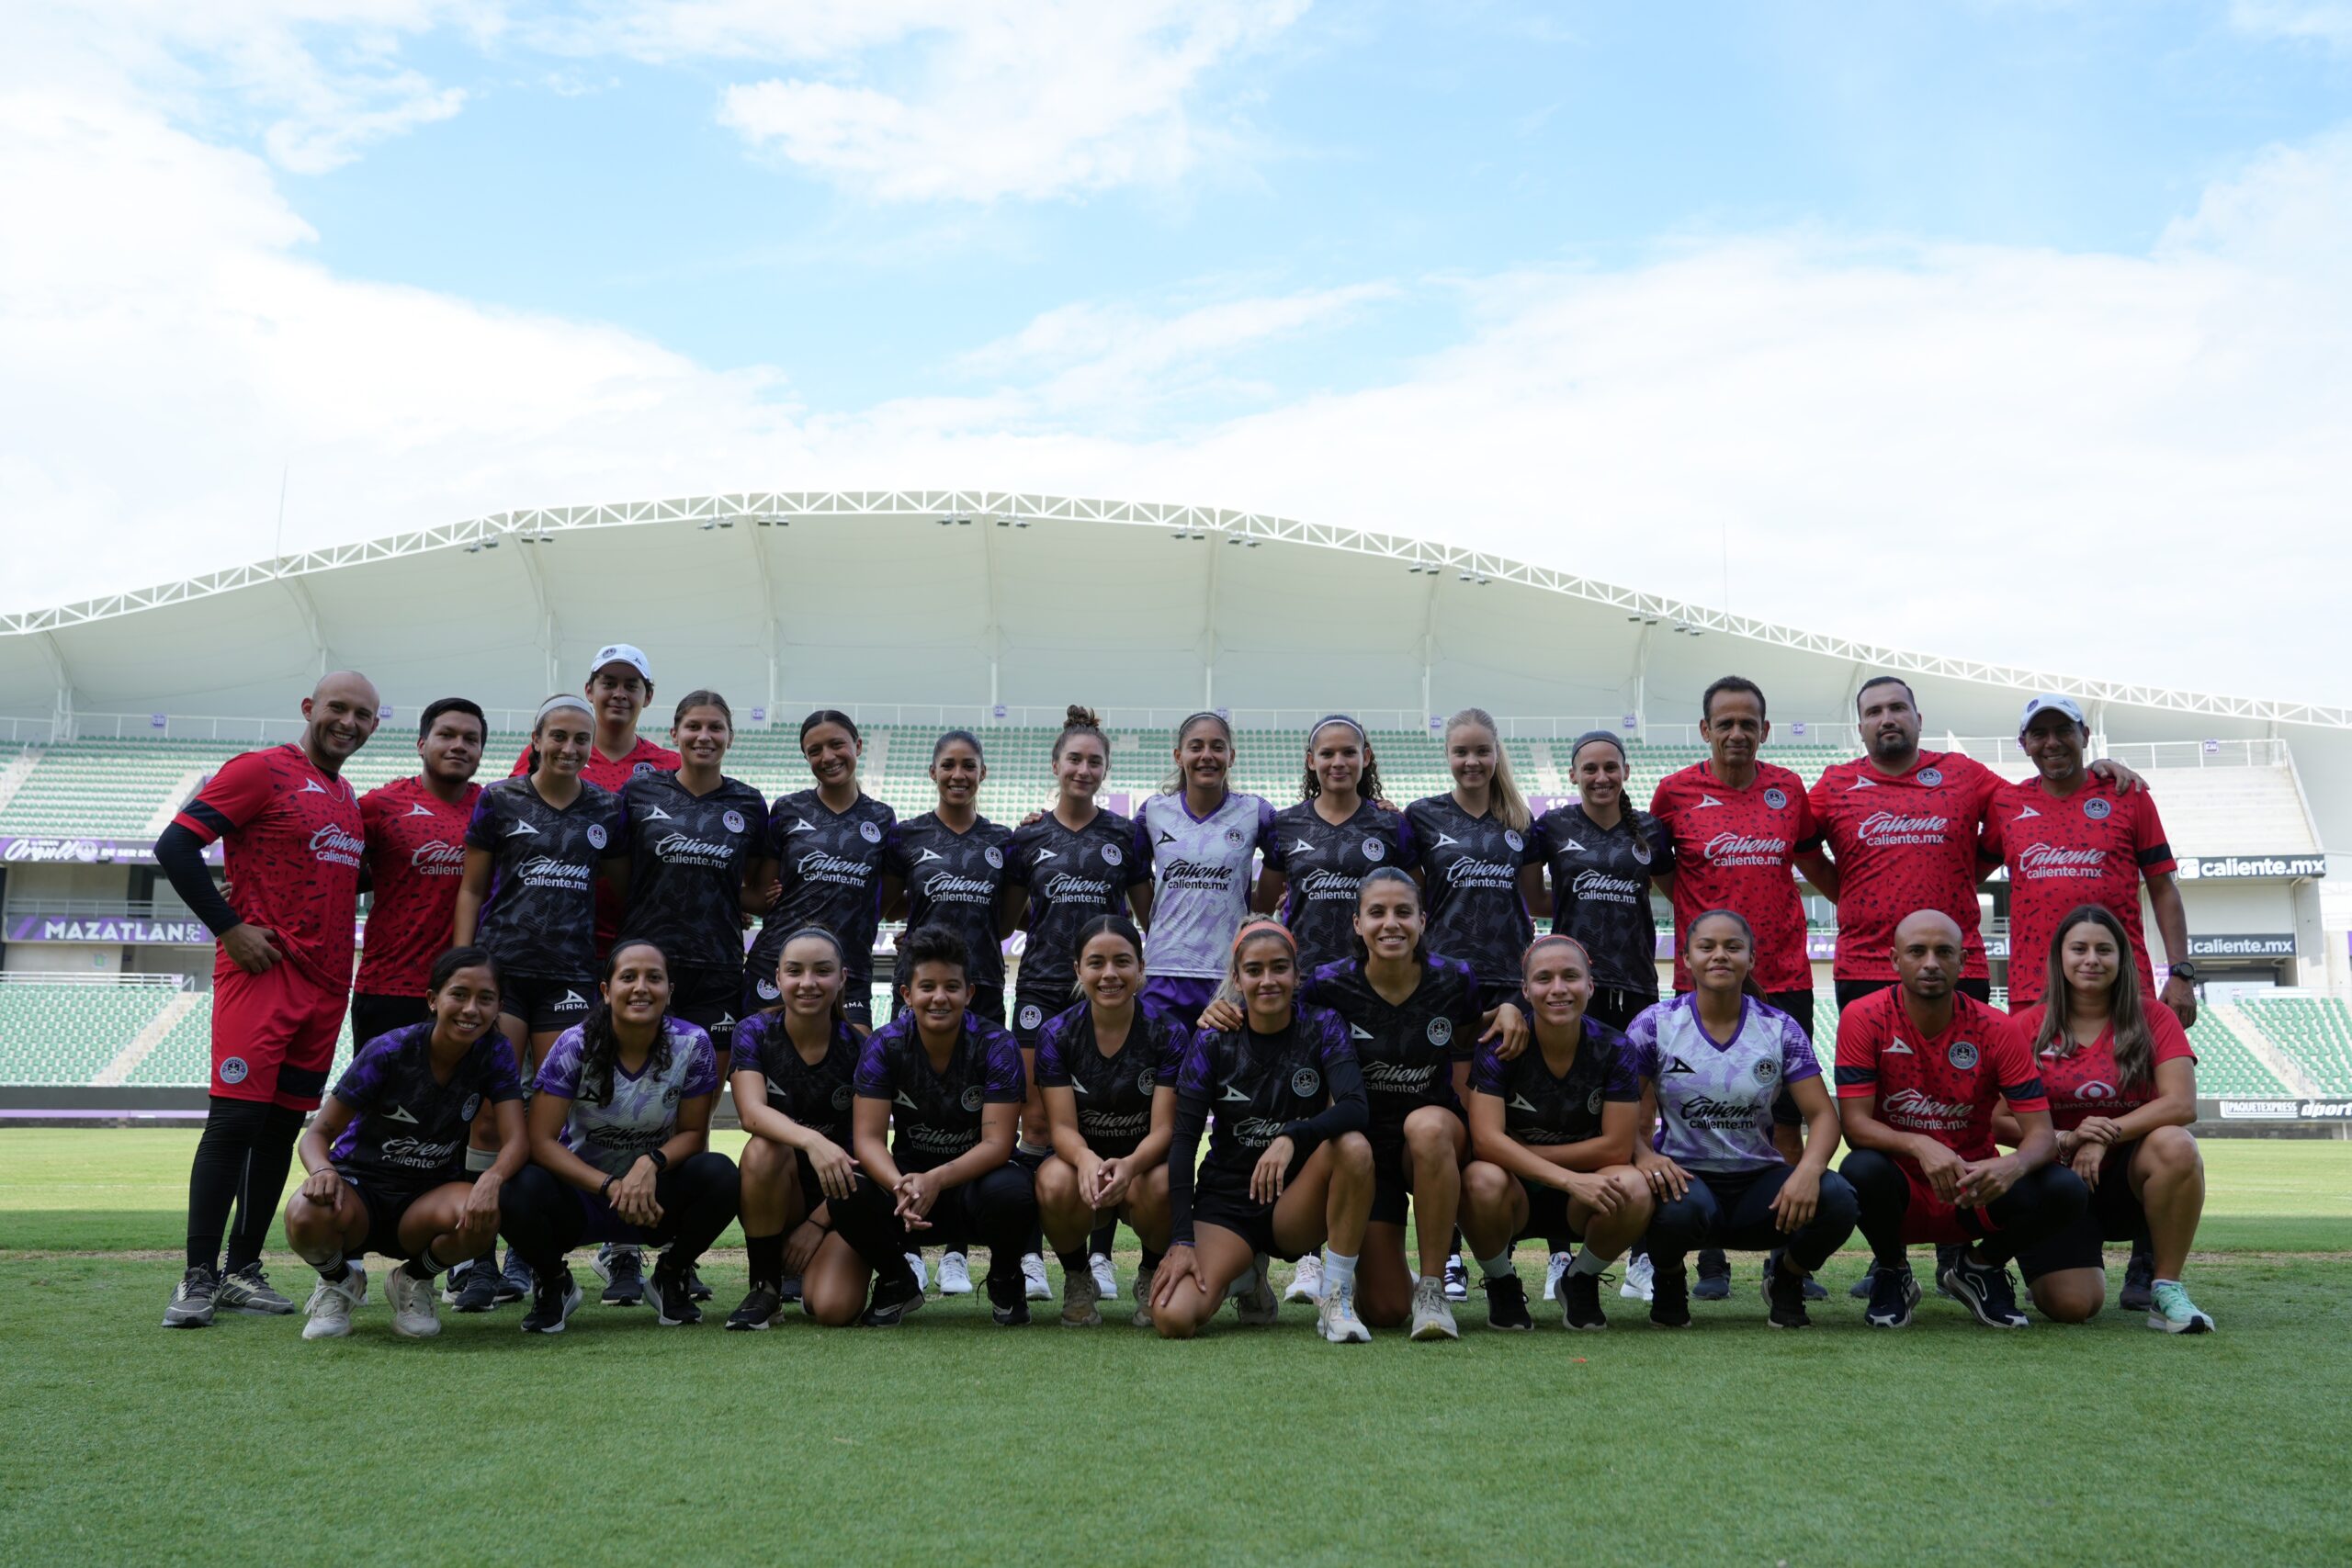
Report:
[[[343,762],[376,733],[376,708],[365,675],[320,679],[303,698],[299,743],[230,757],[155,839],[155,863],[221,943],[212,964],[212,1105],[188,1171],[188,1265],[165,1328],[205,1328],[216,1307],[294,1312],[261,1276],[261,1241],[343,1027],[367,849]],[[205,865],[214,839],[226,842],[235,907]]]

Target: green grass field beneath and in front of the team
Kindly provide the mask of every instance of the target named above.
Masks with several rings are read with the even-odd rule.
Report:
[[[165,1333],[191,1150],[0,1133],[7,1561],[2352,1559],[2347,1143],[2206,1145],[2206,1338],[2114,1309],[2004,1335],[1933,1298],[1867,1333],[1846,1253],[1802,1335],[1733,1258],[1689,1333],[1611,1295],[1609,1333],[1496,1335],[1472,1298],[1458,1345],[1369,1347],[1305,1307],[1162,1345],[974,1300],[764,1335],[588,1305],[557,1340],[506,1307],[405,1342],[374,1260],[350,1340]],[[741,1253],[703,1272],[722,1316]]]

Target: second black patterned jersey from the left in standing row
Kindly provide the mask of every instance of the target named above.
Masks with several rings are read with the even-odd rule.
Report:
[[[708,795],[680,773],[647,769],[621,785],[628,813],[628,905],[621,936],[661,947],[670,964],[743,966],[743,867],[760,856],[767,799],[720,778]]]

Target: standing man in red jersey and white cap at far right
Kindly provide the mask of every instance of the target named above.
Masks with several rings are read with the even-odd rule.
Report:
[[[2157,997],[2140,924],[2145,882],[2171,959],[2159,999],[2187,1030],[2197,1023],[2197,966],[2190,964],[2190,917],[2173,884],[2164,820],[2145,790],[2126,795],[2082,764],[2089,743],[2091,724],[2074,698],[2042,693],[2025,703],[2018,745],[2032,757],[2034,778],[2002,785],[1985,813],[1985,863],[2009,867],[2009,1006],[2042,999],[2058,922],[2084,903],[2124,922],[2140,990]]]

